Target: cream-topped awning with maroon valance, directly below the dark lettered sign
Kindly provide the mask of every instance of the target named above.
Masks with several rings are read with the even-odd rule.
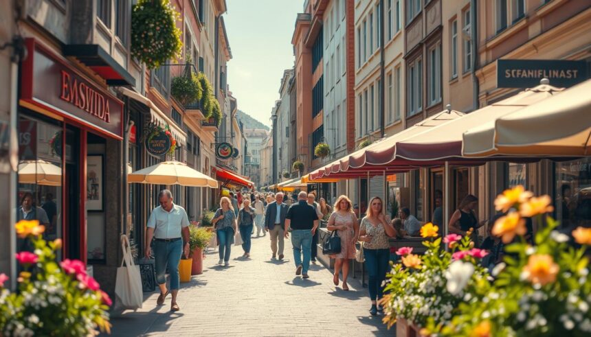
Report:
[[[441,161],[454,159],[459,163],[469,161],[462,159],[462,135],[467,130],[477,128],[487,121],[494,121],[504,115],[531,106],[548,97],[556,95],[563,89],[548,84],[540,84],[526,89],[505,100],[485,106],[447,124],[432,128],[427,132],[414,135],[396,146],[396,156],[409,161]],[[420,163],[419,163],[420,164]]]

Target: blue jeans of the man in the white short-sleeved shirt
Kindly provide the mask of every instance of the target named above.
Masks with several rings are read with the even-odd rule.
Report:
[[[156,282],[166,283],[166,266],[170,272],[170,290],[179,289],[179,262],[183,253],[183,240],[174,242],[155,241],[154,258],[156,264]]]

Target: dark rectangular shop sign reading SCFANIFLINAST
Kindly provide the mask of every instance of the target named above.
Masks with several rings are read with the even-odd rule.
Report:
[[[533,88],[542,78],[564,88],[589,78],[585,61],[497,60],[498,88]]]

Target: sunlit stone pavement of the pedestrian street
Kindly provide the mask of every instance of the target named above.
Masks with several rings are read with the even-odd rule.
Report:
[[[381,316],[370,316],[359,279],[350,278],[345,292],[320,262],[311,265],[310,279],[296,277],[290,239],[283,261],[271,261],[269,235],[253,238],[250,259],[232,246],[228,267],[216,266],[217,249],[210,250],[203,274],[181,283],[180,312],[170,313],[170,295],[157,307],[158,292],[146,293],[142,309],[111,318],[111,335],[394,336]]]

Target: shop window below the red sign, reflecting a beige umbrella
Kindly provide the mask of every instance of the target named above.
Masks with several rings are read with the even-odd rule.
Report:
[[[62,238],[63,127],[19,118],[19,185],[17,220],[38,220],[45,240]],[[24,243],[23,243],[24,244]],[[25,249],[20,246],[19,250]],[[61,252],[58,252],[58,258]]]

